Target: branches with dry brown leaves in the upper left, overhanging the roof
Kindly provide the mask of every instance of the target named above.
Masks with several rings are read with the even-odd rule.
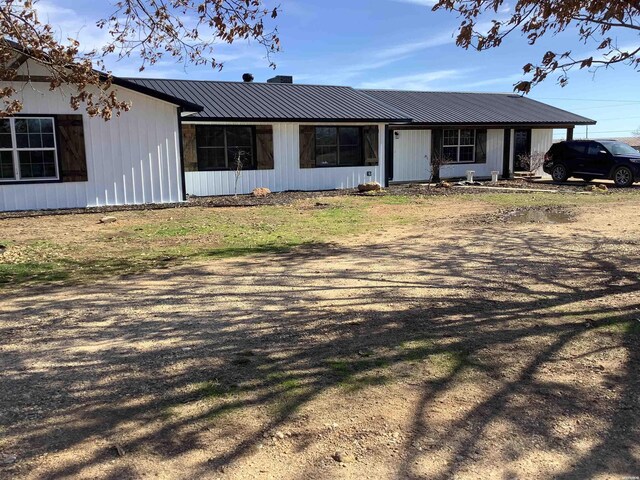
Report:
[[[24,56],[47,70],[50,90],[68,85],[74,109],[84,105],[92,116],[105,120],[131,108],[117,98],[112,89],[105,58],[138,56],[144,70],[165,56],[176,62],[222,68],[214,50],[237,39],[262,45],[271,66],[271,55],[280,50],[277,29],[267,31],[265,22],[273,20],[279,7],[266,8],[263,0],[118,0],[114,11],[96,25],[108,31],[110,40],[98,51],[81,53],[75,39],[56,38],[53,27],[42,23],[37,0],[0,0],[0,116],[22,109],[15,98],[22,79],[16,59]],[[18,81],[20,80],[20,81]]]

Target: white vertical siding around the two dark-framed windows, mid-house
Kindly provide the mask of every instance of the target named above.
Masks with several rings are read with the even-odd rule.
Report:
[[[184,121],[184,123],[188,122]],[[204,122],[194,123],[203,124]],[[206,123],[209,125],[260,125],[260,123],[242,122]],[[321,168],[300,168],[300,125],[305,124],[273,123],[271,125],[273,126],[273,169],[243,170],[237,185],[235,171],[186,172],[187,193],[194,196],[240,195],[251,193],[254,188],[259,187],[266,187],[272,192],[284,192],[355,188],[358,184],[365,182],[378,182],[384,185],[384,124],[377,124],[378,165]],[[351,124],[341,123],[340,125]],[[367,173],[371,173],[371,176]]]

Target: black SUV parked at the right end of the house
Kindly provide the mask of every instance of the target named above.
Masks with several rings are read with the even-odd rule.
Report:
[[[590,182],[608,178],[618,187],[640,181],[640,152],[615,140],[567,140],[554,144],[544,156],[543,170],[555,182],[569,177]]]

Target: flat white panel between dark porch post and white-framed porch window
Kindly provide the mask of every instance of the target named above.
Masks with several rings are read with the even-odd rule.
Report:
[[[393,181],[429,180],[431,130],[396,130],[393,133]]]

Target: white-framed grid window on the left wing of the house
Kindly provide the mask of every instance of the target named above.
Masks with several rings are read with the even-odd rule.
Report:
[[[0,182],[59,178],[54,119],[0,119]]]

